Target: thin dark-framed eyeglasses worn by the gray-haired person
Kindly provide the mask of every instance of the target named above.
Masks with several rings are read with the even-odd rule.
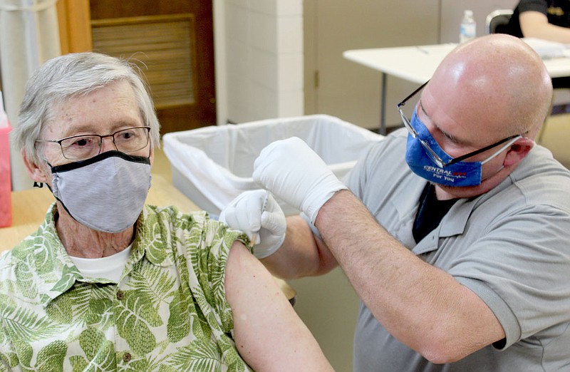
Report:
[[[58,143],[63,157],[68,160],[86,160],[100,154],[103,138],[113,138],[115,149],[134,153],[148,145],[150,127],[121,129],[109,135],[72,135],[61,140],[36,140],[38,143]]]

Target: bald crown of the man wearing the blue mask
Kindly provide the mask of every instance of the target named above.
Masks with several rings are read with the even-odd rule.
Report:
[[[549,112],[552,84],[527,43],[493,34],[455,48],[424,95],[427,109],[445,112],[458,125],[476,125],[489,138],[528,131],[534,139]]]

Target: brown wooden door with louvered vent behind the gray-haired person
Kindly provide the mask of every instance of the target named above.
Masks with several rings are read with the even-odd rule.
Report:
[[[90,0],[93,51],[133,58],[161,133],[216,124],[211,0]]]

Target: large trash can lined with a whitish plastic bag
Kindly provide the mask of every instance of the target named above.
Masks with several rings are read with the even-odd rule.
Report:
[[[219,125],[162,136],[172,166],[172,183],[214,217],[234,197],[259,188],[252,179],[254,161],[276,140],[299,137],[342,179],[368,148],[383,139],[330,115],[259,120]],[[277,200],[286,215],[299,213]]]

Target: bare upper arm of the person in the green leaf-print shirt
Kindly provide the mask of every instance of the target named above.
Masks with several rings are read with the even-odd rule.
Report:
[[[237,350],[255,371],[333,371],[271,274],[241,242],[229,251],[225,287]]]

